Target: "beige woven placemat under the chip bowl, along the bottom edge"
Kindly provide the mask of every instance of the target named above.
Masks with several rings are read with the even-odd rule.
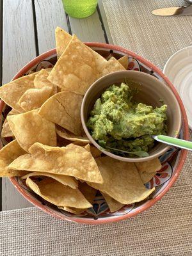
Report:
[[[98,226],[52,218],[32,207],[0,213],[1,256],[189,256],[192,153],[172,189],[148,211]]]

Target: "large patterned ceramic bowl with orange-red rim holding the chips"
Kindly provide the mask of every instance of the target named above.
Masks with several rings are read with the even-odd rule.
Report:
[[[168,78],[164,76],[164,74],[157,67],[155,67],[149,61],[141,58],[141,56],[138,56],[134,52],[127,51],[126,49],[116,45],[99,43],[86,43],[86,45],[92,47],[93,50],[99,52],[99,54],[105,58],[109,58],[111,55],[115,56],[116,58],[128,55],[129,70],[146,72],[152,76],[156,76],[157,79],[166,83],[166,85],[169,86],[172,92],[175,94],[175,97],[177,98],[177,101],[180,105],[180,110],[182,113],[182,129],[180,132],[180,138],[183,138],[184,140],[189,139],[188,121],[182,101],[180,100],[180,97],[172,83],[170,83]],[[56,63],[56,49],[45,52],[44,54],[30,61],[28,65],[23,67],[17,73],[17,75],[13,77],[13,79],[17,79],[18,77],[24,76],[24,74],[28,74],[30,70],[40,70],[40,68],[52,67],[54,63]],[[0,102],[0,111],[2,126],[4,118],[8,113],[8,108],[2,100]],[[7,141],[4,139],[1,139],[0,142],[1,147],[7,143]],[[168,191],[168,189],[170,189],[170,187],[177,179],[186,159],[186,150],[170,148],[170,150],[163,154],[163,156],[159,157],[159,159],[163,165],[162,169],[157,172],[156,176],[150,180],[150,182],[146,184],[147,188],[155,186],[156,191],[150,195],[148,200],[137,204],[126,205],[114,213],[109,212],[108,205],[99,193],[97,193],[95,197],[93,208],[88,209],[88,211],[84,212],[83,214],[74,215],[58,209],[54,205],[49,204],[39,196],[35,195],[35,193],[29,190],[29,188],[27,188],[22,180],[20,180],[18,177],[12,177],[10,178],[10,181],[19,191],[19,193],[22,194],[29,202],[60,220],[75,221],[85,224],[104,224],[131,218],[132,216],[136,216],[140,212],[143,212],[154,205]]]

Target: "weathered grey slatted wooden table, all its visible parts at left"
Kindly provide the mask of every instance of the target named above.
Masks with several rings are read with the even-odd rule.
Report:
[[[30,60],[55,47],[54,29],[60,26],[84,42],[113,44],[102,0],[97,11],[87,19],[73,19],[63,10],[61,0],[1,0],[1,67],[2,84]],[[32,205],[8,179],[1,179],[1,210]]]

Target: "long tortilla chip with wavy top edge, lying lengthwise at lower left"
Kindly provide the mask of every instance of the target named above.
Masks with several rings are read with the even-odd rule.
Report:
[[[69,175],[98,183],[103,181],[92,154],[83,147],[69,144],[60,148],[35,143],[29,153],[15,159],[9,168]]]

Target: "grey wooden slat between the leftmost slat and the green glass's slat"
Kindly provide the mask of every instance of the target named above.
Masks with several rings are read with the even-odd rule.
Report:
[[[56,47],[54,29],[57,26],[68,31],[67,19],[62,1],[35,0],[35,13],[38,49],[42,54]]]

